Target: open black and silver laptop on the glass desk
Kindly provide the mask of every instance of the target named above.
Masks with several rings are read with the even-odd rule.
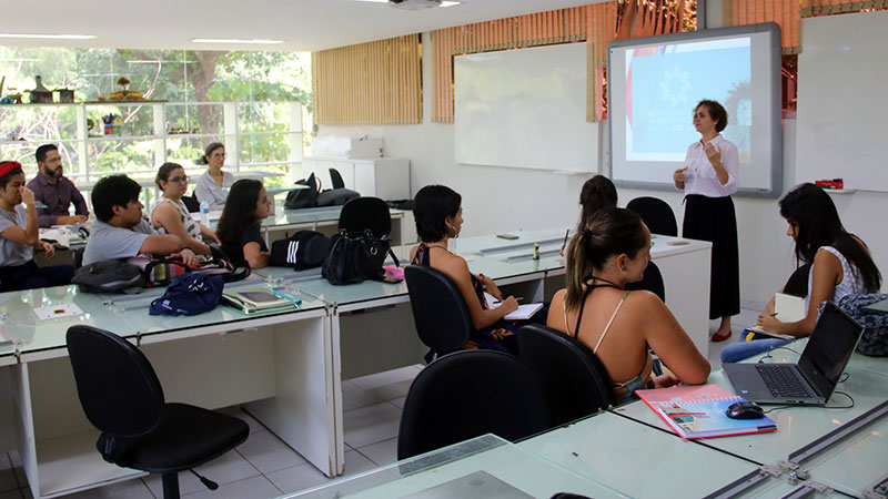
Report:
[[[759,404],[824,405],[864,326],[827,302],[798,364],[725,364],[737,395]]]

